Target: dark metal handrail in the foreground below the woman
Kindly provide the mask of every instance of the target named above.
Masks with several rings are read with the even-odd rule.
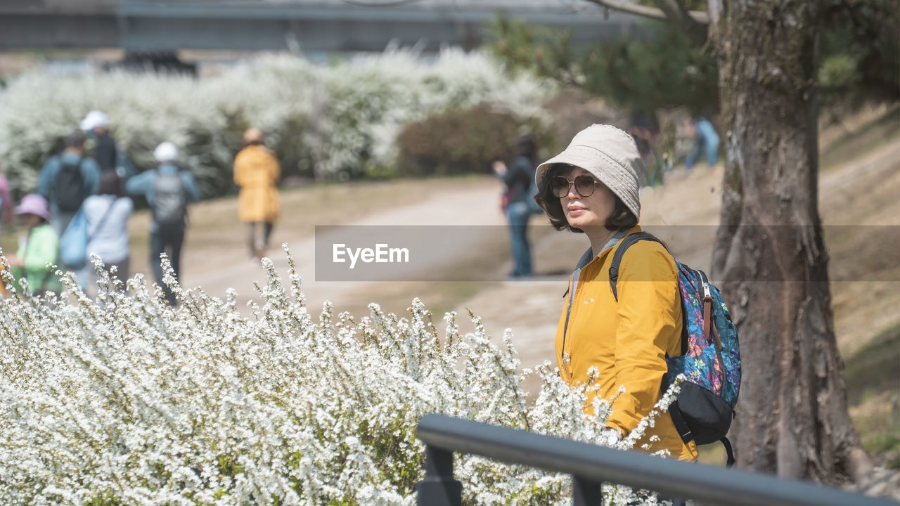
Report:
[[[454,452],[572,474],[576,506],[599,504],[603,482],[734,506],[898,506],[888,499],[813,483],[599,447],[446,415],[422,417],[417,436],[426,444],[426,473],[416,486],[419,506],[461,503],[462,485],[453,478]]]

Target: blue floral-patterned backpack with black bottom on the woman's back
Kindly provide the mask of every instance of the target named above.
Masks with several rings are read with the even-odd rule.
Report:
[[[622,257],[639,240],[653,240],[647,232],[626,235],[609,267],[609,285],[618,301],[616,282]],[[663,244],[663,247],[665,245]],[[737,329],[728,307],[707,275],[677,259],[681,294],[682,327],[680,357],[666,357],[668,372],[662,378],[665,392],[677,375],[685,375],[678,397],[669,406],[672,422],[681,439],[707,445],[721,441],[728,454],[728,466],[734,465],[731,442],[725,438],[734,418],[734,405],[741,388],[741,352]]]

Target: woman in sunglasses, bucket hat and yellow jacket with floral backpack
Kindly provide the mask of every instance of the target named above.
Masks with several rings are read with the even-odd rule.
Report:
[[[596,369],[599,389],[586,410],[597,395],[613,399],[599,441],[607,446],[635,430],[674,377],[685,375],[670,416],[655,420],[634,447],[694,461],[697,445],[724,438],[730,425],[740,384],[737,334],[706,276],[682,266],[638,225],[642,163],[628,133],[595,124],[537,167],[537,202],[551,224],[590,241],[569,279],[556,363],[573,386],[589,383]],[[695,382],[721,412],[707,411],[707,393]],[[698,416],[691,411],[697,397]],[[705,416],[718,425],[703,427]]]

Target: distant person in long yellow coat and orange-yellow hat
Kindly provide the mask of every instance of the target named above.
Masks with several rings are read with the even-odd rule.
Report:
[[[244,132],[244,149],[234,158],[234,182],[240,187],[238,218],[247,223],[250,258],[262,258],[278,220],[278,188],[281,167],[266,148],[266,137],[257,128]],[[259,235],[261,234],[261,237]]]

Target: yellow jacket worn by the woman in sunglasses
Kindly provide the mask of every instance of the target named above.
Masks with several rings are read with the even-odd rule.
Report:
[[[575,286],[570,278],[556,330],[556,361],[571,385],[587,383],[588,369],[597,367],[600,389],[594,395],[610,399],[625,386],[613,403],[608,426],[628,434],[662,396],[666,354],[681,353],[681,302],[675,261],[661,244],[646,240],[636,242],[622,258],[616,302],[609,267],[619,244],[621,240],[582,267]],[[660,440],[651,442],[653,435]],[[657,417],[635,448],[644,443],[650,444],[650,452],[666,449],[681,460],[697,459],[696,445],[681,441],[668,412]]]

